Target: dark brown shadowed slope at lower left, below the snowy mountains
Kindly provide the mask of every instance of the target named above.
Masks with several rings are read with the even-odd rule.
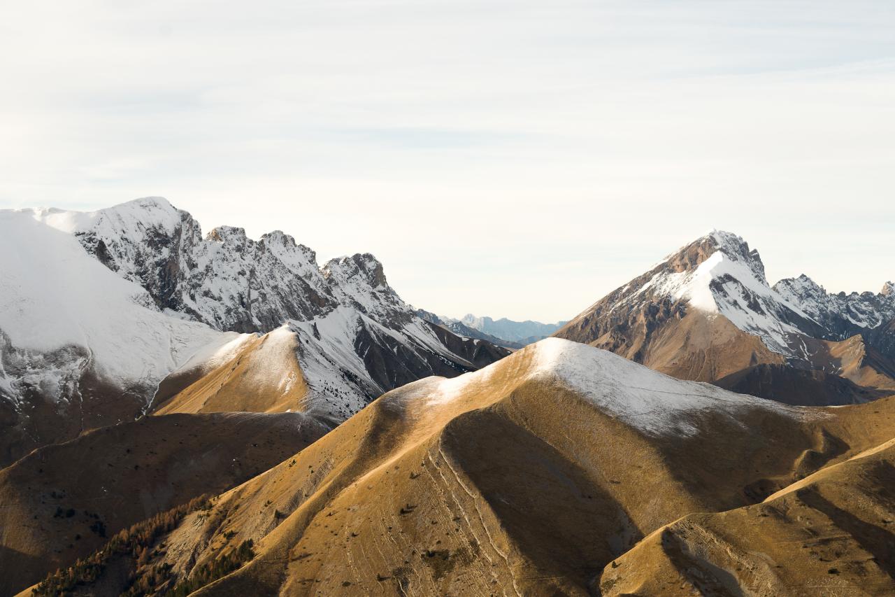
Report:
[[[122,528],[267,470],[325,431],[299,413],[175,414],[35,450],[0,471],[0,594]]]

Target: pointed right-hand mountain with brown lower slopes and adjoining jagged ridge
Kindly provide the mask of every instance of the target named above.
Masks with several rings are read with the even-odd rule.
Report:
[[[714,231],[609,293],[556,335],[670,375],[736,380],[737,389],[769,398],[780,396],[780,385],[807,378],[798,371],[841,376],[855,387],[816,384],[831,394],[803,395],[800,403],[863,402],[878,395],[874,390],[895,390],[892,296],[891,284],[877,295],[831,295],[805,276],[771,287],[756,250]],[[770,367],[743,374],[758,365]]]

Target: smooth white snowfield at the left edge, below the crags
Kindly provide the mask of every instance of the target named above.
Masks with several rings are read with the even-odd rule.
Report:
[[[47,215],[66,213],[71,212]],[[60,385],[71,383],[64,379],[71,368],[94,368],[119,387],[154,387],[176,359],[228,338],[163,314],[146,290],[84,253],[72,235],[30,215],[0,212],[0,335],[10,343],[10,355],[19,350],[25,356],[16,358],[23,363],[34,359],[45,368],[32,366],[16,382],[22,387],[37,379],[47,397],[56,400],[65,394]],[[101,221],[109,213],[80,215]],[[83,352],[83,358],[59,359],[60,368],[50,368],[47,354],[63,350]]]

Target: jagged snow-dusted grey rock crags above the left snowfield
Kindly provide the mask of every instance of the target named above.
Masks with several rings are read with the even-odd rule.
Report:
[[[141,284],[159,308],[219,330],[268,332],[286,319],[307,321],[339,306],[388,321],[411,316],[370,254],[320,267],[314,251],[282,230],[254,240],[243,228],[218,226],[202,238],[188,212],[160,198],[96,214],[77,230],[83,247]]]

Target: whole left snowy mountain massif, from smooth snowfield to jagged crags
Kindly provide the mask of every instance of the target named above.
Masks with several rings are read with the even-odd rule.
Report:
[[[399,385],[507,354],[416,316],[372,255],[319,266],[280,231],[255,241],[225,226],[203,238],[189,213],[159,198],[90,213],[0,212],[0,265],[0,465],[140,416],[172,372],[234,356],[226,347],[248,339],[239,333],[276,332],[256,342],[276,349],[281,367],[268,375],[302,378],[243,403],[330,425]],[[252,362],[265,373],[265,359]],[[188,411],[226,410],[225,394],[192,395],[203,406]]]

